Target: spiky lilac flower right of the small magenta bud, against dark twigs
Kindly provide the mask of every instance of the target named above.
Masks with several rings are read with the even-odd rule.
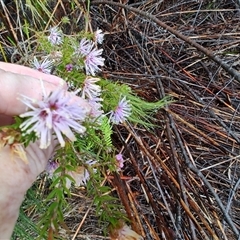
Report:
[[[98,66],[104,65],[104,58],[101,57],[103,49],[94,48],[91,52],[86,55],[84,60],[86,74],[95,76],[95,73],[101,71]]]

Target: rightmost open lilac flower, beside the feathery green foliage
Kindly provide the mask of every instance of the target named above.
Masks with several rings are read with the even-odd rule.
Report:
[[[111,111],[110,121],[114,124],[123,123],[130,116],[131,110],[129,100],[126,100],[126,97],[122,98],[116,109]]]

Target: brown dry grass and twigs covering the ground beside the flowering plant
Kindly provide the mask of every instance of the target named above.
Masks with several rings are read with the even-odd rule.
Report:
[[[79,30],[81,18],[76,16],[86,6],[79,1],[79,9],[69,12],[67,1],[56,2],[55,21],[69,14],[71,31]],[[237,1],[129,4],[240,69]],[[122,201],[132,228],[149,240],[240,239],[239,81],[139,14],[93,3],[90,15],[93,29],[107,32],[104,77],[128,83],[148,101],[165,95],[175,99],[155,115],[154,130],[128,124],[115,129],[116,146],[124,149],[128,160],[120,176],[109,176],[106,181]],[[6,32],[5,24],[1,41],[9,47]],[[67,235],[69,239],[102,239],[91,200],[83,196],[78,190],[72,199],[76,211],[66,216]]]

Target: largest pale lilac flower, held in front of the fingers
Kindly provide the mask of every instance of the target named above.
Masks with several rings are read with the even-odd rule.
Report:
[[[53,133],[62,147],[65,146],[63,134],[75,141],[76,137],[71,129],[83,134],[86,129],[80,123],[85,120],[91,109],[86,100],[79,99],[76,102],[73,97],[73,94],[62,88],[54,90],[49,96],[44,94],[41,101],[23,96],[21,101],[31,110],[20,115],[27,118],[20,125],[21,130],[26,131],[26,134],[35,132],[40,138],[42,149],[51,144]]]

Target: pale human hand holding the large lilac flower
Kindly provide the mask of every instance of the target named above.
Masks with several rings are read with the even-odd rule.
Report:
[[[61,78],[0,62],[0,126],[12,124],[13,116],[26,112],[26,106],[19,100],[21,94],[41,100],[42,85],[47,94],[59,86],[67,89]],[[86,105],[77,97],[74,101],[79,101],[81,106]],[[9,146],[0,149],[0,240],[11,238],[24,195],[45,169],[55,146],[52,143],[47,149],[40,149],[38,141],[30,143],[25,149],[28,163],[12,154]]]

